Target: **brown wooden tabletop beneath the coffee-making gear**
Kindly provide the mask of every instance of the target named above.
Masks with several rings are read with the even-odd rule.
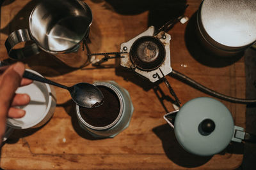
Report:
[[[28,27],[29,13],[37,2],[6,0],[2,4],[1,60],[7,58],[4,41],[8,34]],[[154,4],[153,1],[88,0],[86,3],[93,12],[88,46],[92,53],[97,53],[118,52],[121,43],[145,31],[149,24],[161,25],[166,16],[177,15],[186,1],[159,0]],[[200,0],[189,0],[187,4],[185,15],[189,22],[177,23],[168,31],[172,36],[173,69],[222,94],[244,98],[244,57],[220,59],[203,52],[193,32]],[[230,144],[212,157],[185,152],[163,119],[165,113],[174,110],[164,83],[154,88],[147,80],[118,66],[118,61],[109,60],[102,68],[89,64],[83,69],[70,69],[42,53],[24,62],[28,68],[64,85],[116,81],[129,91],[134,113],[129,127],[115,138],[94,139],[77,125],[74,103],[68,92],[55,88],[57,106],[53,117],[41,128],[13,132],[1,149],[3,169],[234,169],[243,160],[243,145],[239,143]],[[167,79],[182,104],[207,96],[175,78],[167,76]],[[163,92],[162,97],[159,90]],[[244,127],[245,105],[221,102],[232,112],[235,124]]]

